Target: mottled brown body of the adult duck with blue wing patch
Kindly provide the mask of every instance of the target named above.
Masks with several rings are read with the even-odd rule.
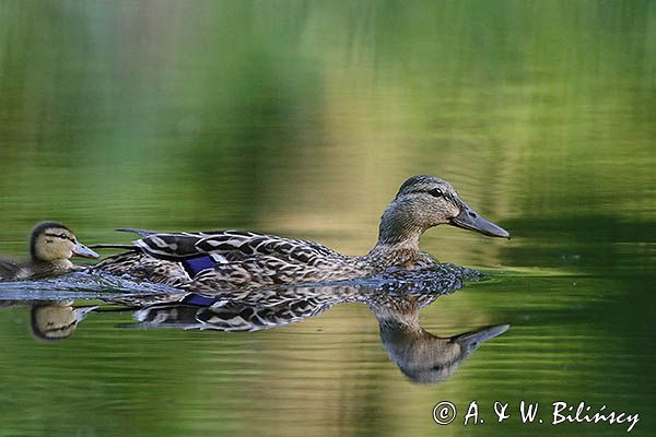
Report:
[[[132,232],[142,237],[134,243],[139,251],[108,258],[94,269],[202,292],[368,273],[359,259],[315,241],[242,231]]]

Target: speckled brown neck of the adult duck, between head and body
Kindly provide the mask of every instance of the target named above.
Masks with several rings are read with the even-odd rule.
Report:
[[[424,232],[413,224],[407,209],[393,202],[380,217],[378,243],[366,258],[382,268],[417,264],[422,256],[419,250],[419,237]]]

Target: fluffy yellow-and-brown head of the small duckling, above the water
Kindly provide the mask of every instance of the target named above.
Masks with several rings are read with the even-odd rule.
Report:
[[[66,262],[71,257],[99,258],[82,245],[71,229],[56,222],[44,222],[32,229],[30,253],[33,261]]]

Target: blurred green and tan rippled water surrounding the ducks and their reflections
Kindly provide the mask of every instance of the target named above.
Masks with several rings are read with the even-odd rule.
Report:
[[[429,328],[515,326],[449,382],[418,388],[359,306],[251,336],[90,317],[57,345],[5,310],[17,401],[0,408],[0,435],[436,435],[443,398],[520,394],[619,399],[648,435],[655,67],[653,1],[2,1],[0,252],[24,253],[49,218],[89,244],[127,241],[116,227],[232,227],[364,253],[398,186],[430,174],[515,238],[422,238],[501,277],[441,298]],[[61,399],[42,398],[62,379]]]

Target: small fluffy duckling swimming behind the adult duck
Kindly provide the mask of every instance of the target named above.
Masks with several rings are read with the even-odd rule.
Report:
[[[74,269],[70,258],[99,258],[80,244],[71,229],[60,223],[45,222],[32,229],[31,259],[25,262],[0,259],[0,280],[25,280],[60,274]]]

